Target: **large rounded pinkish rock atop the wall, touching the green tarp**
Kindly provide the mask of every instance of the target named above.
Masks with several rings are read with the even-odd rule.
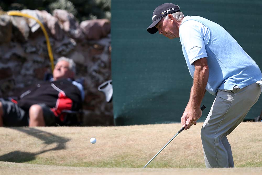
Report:
[[[85,20],[81,22],[80,28],[88,40],[98,40],[106,37],[111,30],[108,19]]]

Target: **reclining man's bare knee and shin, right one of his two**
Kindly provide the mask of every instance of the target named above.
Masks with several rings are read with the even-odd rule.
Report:
[[[40,105],[32,105],[29,109],[29,127],[45,126],[43,110]]]

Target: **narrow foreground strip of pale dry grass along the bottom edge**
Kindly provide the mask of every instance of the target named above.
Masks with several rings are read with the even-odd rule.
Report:
[[[63,167],[52,165],[32,165],[26,163],[11,163],[0,161],[0,175],[260,175],[261,167],[255,168],[92,168],[92,167]]]

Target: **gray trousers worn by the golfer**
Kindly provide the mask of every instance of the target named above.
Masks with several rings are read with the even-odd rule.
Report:
[[[234,167],[230,134],[258,101],[260,86],[253,83],[239,89],[219,90],[201,129],[201,140],[207,168]]]

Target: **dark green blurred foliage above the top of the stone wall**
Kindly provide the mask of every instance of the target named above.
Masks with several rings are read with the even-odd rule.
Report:
[[[111,19],[111,0],[1,0],[4,11],[37,9],[53,13],[55,9],[67,10],[78,21],[88,19]]]

